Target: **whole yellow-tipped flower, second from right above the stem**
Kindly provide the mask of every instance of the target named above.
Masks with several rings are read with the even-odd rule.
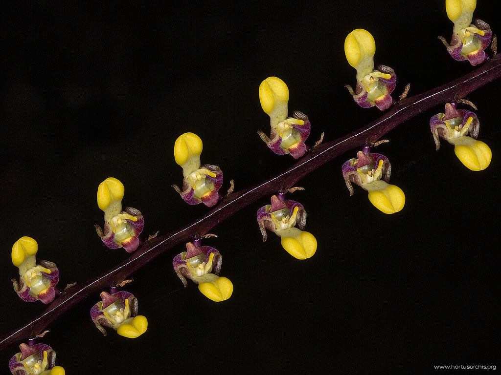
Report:
[[[395,71],[385,65],[374,69],[376,43],[372,34],[363,28],[350,32],[345,39],[345,54],[348,63],[357,69],[355,90],[346,85],[353,99],[362,108],[377,106],[380,110],[388,109],[393,103],[391,93],[397,77]]]

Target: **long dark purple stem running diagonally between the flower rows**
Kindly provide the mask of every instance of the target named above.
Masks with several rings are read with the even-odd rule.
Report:
[[[106,271],[92,280],[64,290],[39,317],[1,337],[0,350],[26,337],[36,335],[84,298],[92,294],[98,294],[102,289],[120,283],[131,273],[162,252],[169,250],[178,243],[187,242],[195,236],[207,233],[218,223],[262,196],[287,190],[305,175],[341,153],[355,147],[372,144],[409,118],[435,105],[463,98],[470,92],[500,76],[501,56],[496,54],[472,72],[440,87],[408,97],[394,105],[391,110],[370,124],[346,136],[319,145],[284,172],[256,186],[230,194],[219,205],[196,221],[169,234],[146,241],[141,248],[132,253],[128,259],[122,261],[115,268]]]

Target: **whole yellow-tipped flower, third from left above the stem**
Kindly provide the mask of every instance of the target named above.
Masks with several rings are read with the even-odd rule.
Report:
[[[177,185],[172,187],[188,204],[205,204],[212,207],[217,204],[220,194],[217,192],[222,185],[222,171],[217,165],[204,164],[200,166],[202,140],[194,133],[179,135],[174,143],[174,159],[183,168],[182,189]]]

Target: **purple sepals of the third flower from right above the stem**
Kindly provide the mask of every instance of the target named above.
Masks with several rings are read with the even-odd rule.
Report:
[[[290,153],[295,159],[299,159],[303,156],[309,147],[305,144],[305,140],[310,135],[311,123],[308,116],[299,110],[293,112],[293,116],[289,118],[297,118],[298,120],[303,120],[303,124],[292,124],[293,136],[297,140],[297,143],[289,146],[282,147],[282,137],[275,129],[271,129],[270,137],[266,135],[263,131],[258,131],[261,139],[266,143],[266,145],[277,155],[285,155]]]

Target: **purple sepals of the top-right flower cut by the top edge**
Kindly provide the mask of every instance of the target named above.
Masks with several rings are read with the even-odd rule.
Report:
[[[474,34],[473,41],[471,41],[471,43],[474,43],[477,49],[472,52],[463,52],[464,45],[461,37],[457,34],[452,34],[450,44],[447,43],[445,38],[443,38],[442,36],[440,36],[440,40],[442,40],[445,47],[447,48],[447,52],[449,52],[454,60],[464,61],[467,59],[471,65],[475,66],[482,63],[487,58],[484,49],[487,48],[490,44],[490,40],[492,38],[492,30],[490,29],[489,24],[482,21],[481,19],[474,19],[472,25],[484,32],[483,35],[476,33]]]

